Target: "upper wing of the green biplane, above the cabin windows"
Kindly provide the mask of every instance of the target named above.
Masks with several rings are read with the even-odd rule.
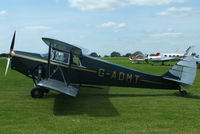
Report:
[[[55,40],[55,39],[50,39],[50,38],[42,38],[42,40],[48,45],[51,46],[52,49],[62,51],[62,52],[67,52],[67,53],[73,53],[74,55],[77,56],[82,56],[82,50],[74,45]]]

